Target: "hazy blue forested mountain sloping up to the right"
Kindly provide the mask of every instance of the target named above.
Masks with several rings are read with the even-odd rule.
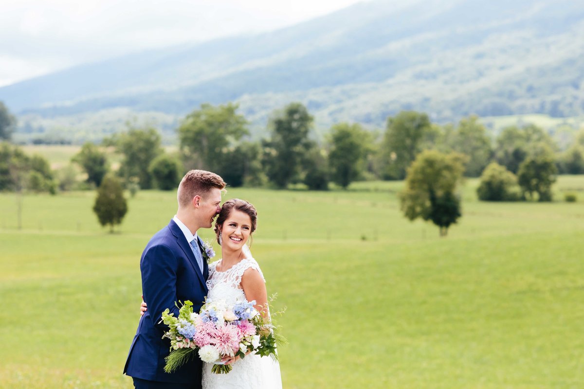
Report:
[[[164,117],[169,129],[200,103],[226,101],[256,128],[290,101],[307,104],[320,128],[382,126],[401,109],[436,121],[581,115],[584,1],[359,3],[272,33],[77,66],[2,87],[0,100],[29,132],[103,129],[96,117],[110,110]]]

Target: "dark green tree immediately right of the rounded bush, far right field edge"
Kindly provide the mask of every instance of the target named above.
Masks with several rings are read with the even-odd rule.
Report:
[[[551,201],[551,185],[555,183],[557,173],[554,153],[545,143],[537,143],[519,166],[517,181],[524,196],[533,199],[537,193],[538,201]]]

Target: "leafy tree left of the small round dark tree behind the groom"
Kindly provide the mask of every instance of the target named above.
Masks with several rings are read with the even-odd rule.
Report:
[[[142,189],[150,189],[152,176],[148,168],[152,160],[164,151],[158,131],[155,128],[131,128],[114,138],[113,143],[122,155],[119,175],[126,184],[137,179]]]

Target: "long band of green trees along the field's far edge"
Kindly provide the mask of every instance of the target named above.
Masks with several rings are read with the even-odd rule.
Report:
[[[9,139],[15,119],[3,104],[0,108],[5,111],[2,114],[0,109],[0,136]],[[331,182],[347,188],[356,180],[403,180],[420,153],[435,150],[464,155],[462,174],[466,177],[482,174],[485,180],[500,181],[479,190],[481,199],[493,201],[545,201],[551,199],[549,186],[555,174],[584,174],[584,131],[567,150],[560,150],[536,125],[510,126],[492,139],[477,116],[456,125],[438,125],[425,113],[401,111],[387,118],[383,131],[341,122],[318,139],[307,108],[291,103],[273,112],[265,138],[252,141],[248,121],[237,108],[233,103],[202,104],[186,115],[177,129],[176,152],[165,152],[157,129],[130,127],[100,145],[85,143],[72,163],[84,171],[87,187],[98,187],[113,170],[105,150],[112,148],[120,156],[114,173],[128,189],[172,190],[185,171],[205,169],[220,174],[231,187],[305,184],[310,190],[326,190]],[[40,156],[26,157],[26,162],[16,146],[5,143],[1,150],[0,190],[18,186],[14,174],[8,172],[16,169],[15,164],[20,166],[16,170],[27,171],[31,190],[67,190],[74,181],[70,168],[51,172],[46,161],[39,162]],[[534,175],[540,176],[538,182]],[[551,181],[549,185],[544,177]]]

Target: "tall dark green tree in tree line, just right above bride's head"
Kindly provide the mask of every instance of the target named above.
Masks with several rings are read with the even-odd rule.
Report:
[[[301,166],[312,143],[308,134],[312,116],[301,103],[290,103],[274,112],[269,122],[270,139],[264,140],[262,158],[266,175],[279,188],[301,179]]]

